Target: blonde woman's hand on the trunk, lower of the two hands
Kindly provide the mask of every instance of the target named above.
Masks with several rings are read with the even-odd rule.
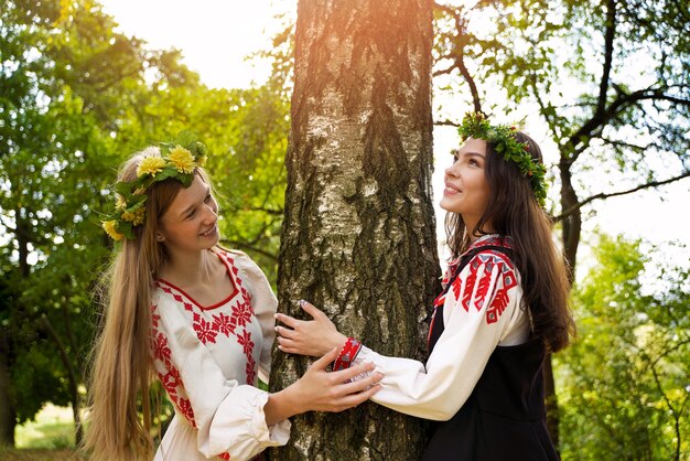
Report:
[[[380,389],[381,373],[374,372],[374,364],[360,364],[339,372],[326,372],[335,361],[338,349],[334,347],[310,366],[297,383],[290,386],[293,401],[302,403],[303,411],[343,411],[369,399]],[[349,382],[358,375],[365,377]]]

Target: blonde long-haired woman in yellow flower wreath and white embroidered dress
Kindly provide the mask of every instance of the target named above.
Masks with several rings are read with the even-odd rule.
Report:
[[[270,371],[277,300],[247,255],[218,246],[205,159],[195,141],[149,148],[115,185],[104,228],[118,249],[89,383],[93,459],[153,457],[154,375],[175,408],[157,460],[250,459],[288,441],[291,416],[339,411],[378,390],[380,374],[348,383],[371,364],[326,373],[337,350],[281,392],[256,387]]]

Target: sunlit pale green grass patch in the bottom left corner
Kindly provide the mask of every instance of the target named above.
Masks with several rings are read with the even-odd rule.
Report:
[[[74,450],[74,420],[71,408],[46,405],[34,421],[17,428],[17,448],[0,447],[3,461],[82,460]]]

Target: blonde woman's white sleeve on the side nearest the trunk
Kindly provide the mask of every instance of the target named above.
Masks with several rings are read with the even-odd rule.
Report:
[[[242,293],[251,298],[254,314],[261,325],[263,343],[261,346],[261,355],[259,358],[259,379],[268,383],[271,373],[271,351],[273,340],[276,339],[276,310],[278,309],[278,299],[271,289],[263,271],[244,253],[229,254],[235,258],[235,264],[240,269],[240,277],[246,279],[249,292]]]

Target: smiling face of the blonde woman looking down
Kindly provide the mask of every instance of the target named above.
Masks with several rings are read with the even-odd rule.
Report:
[[[218,204],[211,186],[195,175],[192,184],[180,190],[159,219],[157,238],[170,253],[208,249],[220,238],[217,224]]]

